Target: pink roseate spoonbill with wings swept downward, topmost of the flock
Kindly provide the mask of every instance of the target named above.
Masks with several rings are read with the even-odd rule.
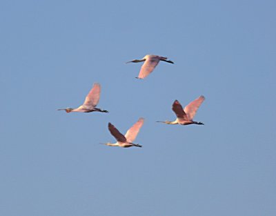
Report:
[[[146,55],[143,59],[135,59],[132,61],[128,61],[127,63],[130,63],[130,62],[137,63],[137,62],[145,61],[145,63],[141,66],[141,70],[139,72],[138,77],[136,77],[137,79],[144,79],[148,77],[148,75],[152,72],[152,70],[155,69],[159,61],[166,61],[168,63],[173,63],[172,61],[166,60],[166,59],[167,57],[160,57],[158,55]]]

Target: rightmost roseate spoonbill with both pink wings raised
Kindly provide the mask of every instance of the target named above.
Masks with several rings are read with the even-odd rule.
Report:
[[[199,98],[195,99],[195,101],[190,102],[184,109],[182,108],[179,101],[175,100],[172,104],[172,111],[177,115],[177,119],[175,121],[157,121],[165,124],[201,124],[202,122],[193,121],[193,117],[195,117],[195,113],[197,109],[204,101],[205,97],[201,95]]]

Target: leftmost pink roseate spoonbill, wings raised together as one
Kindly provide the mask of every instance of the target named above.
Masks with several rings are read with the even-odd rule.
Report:
[[[88,95],[86,96],[86,100],[83,105],[78,108],[65,108],[58,110],[66,110],[66,112],[108,112],[107,110],[101,110],[96,108],[99,103],[99,95],[101,94],[101,86],[100,84],[94,84]]]

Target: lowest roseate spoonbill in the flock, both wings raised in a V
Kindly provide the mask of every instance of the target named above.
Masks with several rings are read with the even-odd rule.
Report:
[[[141,126],[144,124],[144,118],[139,118],[139,120],[126,132],[126,135],[122,135],[117,128],[115,128],[114,125],[112,125],[110,122],[108,123],[108,130],[110,131],[111,135],[115,137],[117,140],[117,143],[105,144],[106,146],[120,146],[123,148],[128,147],[142,147],[139,144],[133,144],[132,141],[135,141],[135,138],[137,137],[137,134],[141,128]]]

